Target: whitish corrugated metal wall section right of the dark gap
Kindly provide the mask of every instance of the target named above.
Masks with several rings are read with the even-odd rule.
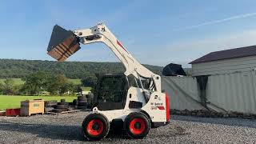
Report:
[[[212,75],[206,96],[209,102],[228,111],[256,114],[255,71]]]

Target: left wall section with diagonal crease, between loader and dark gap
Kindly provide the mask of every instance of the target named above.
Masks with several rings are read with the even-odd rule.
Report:
[[[198,97],[195,78],[162,77],[162,90],[170,97],[170,109],[204,110]]]

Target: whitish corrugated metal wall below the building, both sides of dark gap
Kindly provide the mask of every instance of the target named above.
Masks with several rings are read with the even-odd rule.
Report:
[[[162,89],[170,96],[170,109],[205,110],[196,78],[162,77]],[[207,106],[219,112],[256,114],[256,70],[210,75],[206,99]]]

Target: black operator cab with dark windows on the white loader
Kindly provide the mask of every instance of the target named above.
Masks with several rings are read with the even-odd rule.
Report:
[[[155,90],[152,79],[144,79],[140,82],[132,74],[128,77],[125,74],[98,74],[97,86],[94,90],[94,106],[97,106],[98,110],[124,109],[127,92],[131,86],[139,89],[143,87],[146,91]]]

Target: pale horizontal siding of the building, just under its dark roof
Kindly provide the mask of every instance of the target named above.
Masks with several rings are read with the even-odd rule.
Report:
[[[230,74],[256,67],[256,56],[192,64],[192,75]]]

